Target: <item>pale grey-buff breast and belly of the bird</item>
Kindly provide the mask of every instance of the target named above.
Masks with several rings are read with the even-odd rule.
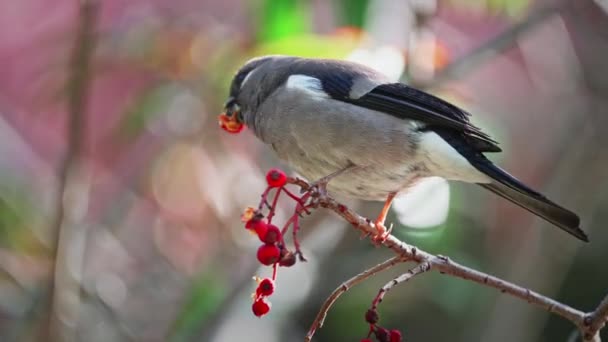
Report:
[[[279,88],[260,105],[253,124],[256,135],[310,181],[354,164],[329,183],[332,193],[384,200],[428,173],[416,153],[417,122],[322,92]]]

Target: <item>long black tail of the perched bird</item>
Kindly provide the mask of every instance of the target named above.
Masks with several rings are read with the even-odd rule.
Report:
[[[482,158],[484,160],[478,159],[473,165],[493,181],[479,185],[544,218],[576,238],[589,242],[587,234],[579,228],[580,219],[575,213],[553,203],[489,160]]]

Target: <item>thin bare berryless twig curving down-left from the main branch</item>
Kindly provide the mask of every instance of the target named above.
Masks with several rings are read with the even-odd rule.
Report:
[[[334,292],[331,293],[331,295],[329,295],[329,297],[323,303],[323,306],[321,306],[321,309],[319,309],[319,313],[317,314],[317,317],[315,318],[310,329],[308,330],[308,333],[306,334],[304,341],[310,342],[310,340],[314,336],[317,329],[319,329],[323,326],[323,322],[325,321],[325,317],[327,316],[327,312],[329,311],[331,306],[336,302],[336,300],[338,300],[338,298],[344,292],[348,291],[350,288],[359,284],[360,282],[372,277],[373,275],[375,275],[379,272],[382,272],[398,263],[405,262],[405,261],[407,261],[407,259],[404,259],[401,256],[393,257],[391,259],[386,260],[385,262],[383,262],[381,264],[378,264],[372,268],[369,268],[369,269],[357,274],[356,276],[354,276],[354,277],[350,278],[349,280],[345,281],[344,283],[342,283],[342,285],[340,285],[337,289],[334,290]]]

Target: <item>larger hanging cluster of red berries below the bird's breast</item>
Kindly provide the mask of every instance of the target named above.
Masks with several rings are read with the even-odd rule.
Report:
[[[272,266],[272,278],[258,278],[255,280],[258,283],[258,287],[253,294],[253,314],[261,317],[270,312],[271,304],[268,301],[268,297],[274,293],[275,281],[277,278],[278,267],[290,267],[296,263],[296,256],[299,257],[300,261],[305,261],[300,251],[300,244],[297,240],[297,231],[299,230],[299,217],[302,213],[308,213],[309,206],[304,205],[308,200],[308,194],[304,194],[298,197],[291,193],[285,188],[288,183],[287,175],[278,169],[271,169],[266,174],[266,183],[268,184],[266,190],[262,194],[260,205],[257,209],[248,207],[245,209],[241,219],[245,222],[245,228],[255,234],[262,245],[258,248],[257,259],[265,266]],[[271,191],[274,190],[274,198],[272,203],[268,202],[268,197]],[[274,217],[279,196],[286,194],[296,201],[296,207],[294,214],[287,221],[282,229],[272,224],[272,218]],[[263,209],[268,208],[268,214],[263,214]],[[293,241],[295,245],[295,252],[290,251],[286,244],[283,236],[287,232],[290,226],[293,226]]]

